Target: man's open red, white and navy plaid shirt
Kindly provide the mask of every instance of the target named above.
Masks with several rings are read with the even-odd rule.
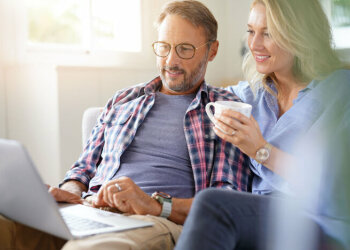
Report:
[[[147,84],[118,91],[107,103],[83,153],[63,182],[77,180],[89,187],[87,194],[92,194],[112,180],[120,167],[120,157],[152,108],[161,86],[162,81],[157,77]],[[250,191],[249,157],[215,135],[205,112],[208,102],[218,100],[239,101],[234,94],[204,82],[185,114],[184,133],[195,190],[221,187]]]

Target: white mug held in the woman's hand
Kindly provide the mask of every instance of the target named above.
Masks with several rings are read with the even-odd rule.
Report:
[[[207,112],[209,119],[215,124],[214,115],[211,112],[210,107],[214,106],[215,113],[220,115],[223,110],[225,109],[231,109],[234,111],[237,111],[246,117],[250,117],[250,114],[252,112],[252,105],[248,103],[243,102],[235,102],[235,101],[217,101],[217,102],[209,102],[205,106],[205,111]],[[221,129],[219,126],[217,126],[223,133],[227,134],[223,129]]]

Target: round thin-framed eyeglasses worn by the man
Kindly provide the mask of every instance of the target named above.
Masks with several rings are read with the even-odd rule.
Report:
[[[203,47],[204,45],[211,43],[213,41],[208,41],[198,47],[190,43],[180,43],[175,45],[176,54],[182,59],[191,59],[196,54],[196,50]],[[166,42],[154,42],[152,44],[154,53],[159,57],[167,57],[171,51],[171,45]]]

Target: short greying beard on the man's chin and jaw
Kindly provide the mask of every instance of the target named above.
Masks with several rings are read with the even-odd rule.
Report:
[[[163,84],[166,86],[167,89],[170,89],[175,92],[186,92],[196,86],[200,78],[202,77],[203,73],[206,69],[206,62],[207,62],[208,56],[203,58],[203,60],[199,63],[196,69],[194,69],[190,76],[187,77],[186,72],[184,74],[184,80],[176,85],[170,86],[168,82],[165,79],[165,68],[163,67],[161,69],[160,78],[162,79]],[[168,67],[170,70],[181,70],[177,66],[176,67]]]

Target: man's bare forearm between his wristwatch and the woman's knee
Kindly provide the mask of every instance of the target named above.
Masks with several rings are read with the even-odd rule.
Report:
[[[183,225],[188,213],[190,212],[192,201],[193,201],[193,198],[190,198],[190,199],[173,198],[172,210],[168,219],[177,224]]]

